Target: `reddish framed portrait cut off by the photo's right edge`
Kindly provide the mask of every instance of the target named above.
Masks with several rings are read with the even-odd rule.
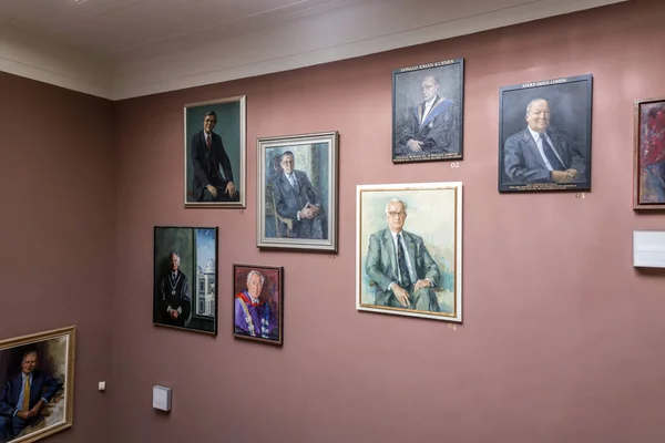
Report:
[[[633,208],[665,209],[665,97],[635,101]]]

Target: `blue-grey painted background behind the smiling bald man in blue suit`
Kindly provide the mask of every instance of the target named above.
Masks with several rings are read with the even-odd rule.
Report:
[[[502,92],[500,110],[501,184],[511,183],[503,167],[503,146],[508,137],[528,127],[526,105],[534,99],[548,101],[550,126],[567,135],[570,143],[580,151],[586,162],[585,174],[589,181],[591,169],[590,146],[587,145],[587,141],[591,140],[589,87],[589,82],[576,81]]]

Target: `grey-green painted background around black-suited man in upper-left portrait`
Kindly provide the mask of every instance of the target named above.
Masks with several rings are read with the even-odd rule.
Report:
[[[233,171],[233,184],[241,192],[241,102],[227,102],[218,104],[206,104],[202,106],[187,107],[185,141],[186,141],[186,202],[196,202],[192,198],[192,178],[194,176],[194,165],[192,164],[192,136],[203,131],[203,120],[208,111],[214,111],[217,114],[217,124],[213,130],[214,133],[222,137],[224,150],[231,161]],[[219,175],[224,176],[224,172],[219,168]]]

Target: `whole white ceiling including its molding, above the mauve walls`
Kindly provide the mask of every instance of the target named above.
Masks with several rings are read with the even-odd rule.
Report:
[[[1,0],[0,71],[121,100],[620,1]]]

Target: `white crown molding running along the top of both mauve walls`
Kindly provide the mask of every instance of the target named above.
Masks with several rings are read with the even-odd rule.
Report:
[[[495,9],[488,11],[487,3],[492,1]],[[203,40],[205,45],[188,47],[195,35],[181,44],[156,42],[142,49],[143,56],[127,53],[127,59],[115,64],[1,23],[0,70],[124,100],[350,59],[625,0],[492,1],[485,0],[478,10],[472,2],[444,7],[446,2],[423,1],[417,12],[409,13],[396,13],[385,1],[349,1],[344,8],[296,14],[246,33]],[[202,41],[200,35],[195,41]]]

